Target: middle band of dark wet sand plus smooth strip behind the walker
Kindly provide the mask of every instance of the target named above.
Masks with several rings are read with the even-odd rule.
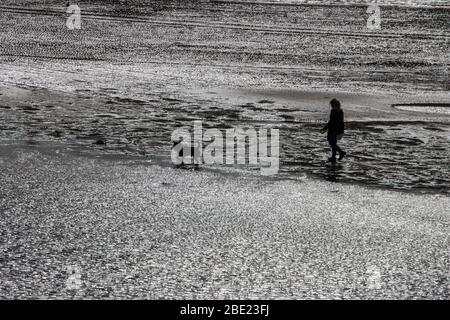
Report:
[[[77,87],[84,89],[76,92],[0,85],[0,139],[53,140],[84,147],[87,152],[134,155],[167,165],[172,131],[182,126],[192,128],[194,120],[202,121],[205,129],[277,128],[279,177],[309,175],[378,188],[450,194],[450,115],[427,112],[426,107],[427,102],[433,102],[450,110],[448,94],[189,87],[175,93],[168,88],[145,91],[137,85],[126,91],[116,85],[107,87],[112,81],[109,68],[105,67],[101,77],[103,74],[94,74],[89,66],[79,68],[84,69],[85,77],[92,75],[90,81],[98,79],[99,88],[81,82]],[[42,73],[50,72],[46,69]],[[115,77],[121,75],[124,86],[135,79],[123,70],[114,70]],[[59,85],[68,84],[60,81]],[[329,146],[319,133],[329,117],[328,102],[333,97],[343,104],[346,133],[341,146],[348,152],[345,161],[336,166],[328,164]],[[393,107],[401,103],[425,106],[413,111]]]

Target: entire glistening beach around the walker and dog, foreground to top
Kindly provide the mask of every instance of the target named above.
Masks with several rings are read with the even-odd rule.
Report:
[[[449,299],[448,5],[256,2],[2,2],[0,299]],[[194,121],[278,174],[177,168]]]

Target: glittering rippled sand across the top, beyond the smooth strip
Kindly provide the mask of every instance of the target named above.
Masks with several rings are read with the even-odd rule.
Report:
[[[238,68],[271,86],[448,88],[448,9],[383,7],[369,30],[364,6],[91,2],[73,32],[46,3],[1,6],[1,55]]]

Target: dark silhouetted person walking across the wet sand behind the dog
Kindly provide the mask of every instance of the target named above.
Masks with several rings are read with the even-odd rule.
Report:
[[[331,158],[328,158],[328,161],[335,163],[336,152],[339,152],[339,160],[342,160],[346,155],[346,152],[337,145],[337,141],[340,140],[344,134],[344,111],[342,111],[341,103],[337,99],[331,100],[330,106],[330,120],[321,131],[325,132],[328,130],[327,140],[332,151]]]

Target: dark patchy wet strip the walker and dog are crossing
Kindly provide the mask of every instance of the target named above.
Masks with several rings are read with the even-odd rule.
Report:
[[[424,120],[395,111],[389,104],[383,114],[376,99],[373,103],[381,111],[360,110],[364,117],[370,113],[372,118],[381,117],[372,120],[359,116],[357,97],[344,100],[350,116],[342,145],[348,157],[331,165],[326,161],[329,146],[319,133],[328,111],[323,102],[329,94],[318,94],[316,100],[306,102],[295,100],[297,106],[292,107],[286,101],[246,95],[242,99],[252,100],[243,104],[233,99],[225,102],[221,97],[208,101],[165,95],[154,95],[151,101],[83,100],[77,94],[46,90],[25,90],[26,94],[18,96],[3,91],[2,105],[7,107],[0,123],[3,139],[70,142],[103,153],[153,157],[169,163],[172,131],[192,127],[194,120],[202,120],[204,129],[268,126],[280,129],[281,177],[306,173],[329,181],[450,193],[447,118]]]

